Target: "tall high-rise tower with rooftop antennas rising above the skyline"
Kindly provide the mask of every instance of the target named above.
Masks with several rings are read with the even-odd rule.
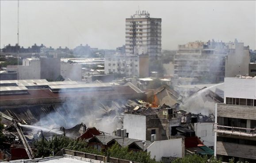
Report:
[[[150,18],[149,12],[136,11],[126,19],[126,55],[161,54],[161,21]]]

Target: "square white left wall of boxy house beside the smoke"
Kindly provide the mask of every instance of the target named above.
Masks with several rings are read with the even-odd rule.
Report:
[[[129,138],[146,140],[146,116],[124,115],[123,128],[129,133]]]

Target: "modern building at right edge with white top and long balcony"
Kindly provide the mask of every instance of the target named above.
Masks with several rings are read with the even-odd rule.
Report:
[[[214,155],[256,162],[256,79],[225,78],[224,103],[215,107]]]

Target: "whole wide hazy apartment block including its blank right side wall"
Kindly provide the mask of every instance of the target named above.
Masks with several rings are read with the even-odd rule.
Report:
[[[179,45],[174,57],[175,78],[198,78],[211,83],[248,74],[249,50],[244,43],[189,42]]]

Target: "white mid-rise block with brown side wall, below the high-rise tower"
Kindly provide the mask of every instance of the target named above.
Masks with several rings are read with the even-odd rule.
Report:
[[[149,56],[105,55],[104,71],[105,74],[145,78],[149,76]]]

